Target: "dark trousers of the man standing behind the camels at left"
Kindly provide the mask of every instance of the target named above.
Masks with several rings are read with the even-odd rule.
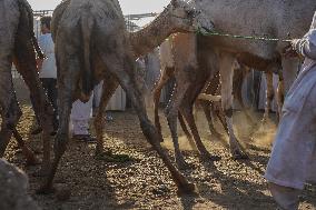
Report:
[[[53,78],[41,78],[40,79],[42,88],[48,97],[49,102],[53,108],[53,128],[58,129],[58,108],[57,108],[57,79]],[[31,103],[33,104],[33,99],[31,97]],[[37,117],[39,123],[39,119]]]

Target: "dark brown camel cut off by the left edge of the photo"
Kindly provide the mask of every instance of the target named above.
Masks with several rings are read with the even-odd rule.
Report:
[[[36,64],[34,49],[40,58],[42,54],[33,33],[33,16],[26,0],[3,0],[0,4],[0,106],[2,124],[0,131],[0,157],[3,157],[6,148],[13,134],[22,149],[28,163],[36,163],[33,152],[26,146],[17,131],[17,123],[22,114],[13,90],[11,67],[16,64],[18,72],[30,89],[34,99],[34,112],[43,128],[43,160],[41,173],[49,170],[50,143],[52,132],[52,107],[49,103],[41,87]]]

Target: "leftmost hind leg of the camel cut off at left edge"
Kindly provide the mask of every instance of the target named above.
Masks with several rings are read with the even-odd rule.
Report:
[[[19,10],[16,2],[4,1],[0,3],[0,10],[13,16],[8,17],[7,12],[0,12],[0,31],[6,31],[6,36],[0,37],[0,109],[1,109],[1,131],[0,131],[0,157],[4,156],[13,129],[16,128],[21,110],[19,108],[12,83],[12,56],[14,37],[19,23]],[[14,8],[17,10],[14,10]]]

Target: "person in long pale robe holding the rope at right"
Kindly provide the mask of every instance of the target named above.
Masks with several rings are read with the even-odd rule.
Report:
[[[316,181],[316,12],[310,30],[292,42],[305,57],[302,71],[286,96],[265,178],[282,209],[298,209],[306,182]]]

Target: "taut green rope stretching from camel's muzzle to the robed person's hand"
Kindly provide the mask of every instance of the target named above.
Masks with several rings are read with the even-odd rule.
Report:
[[[205,29],[206,30],[206,29]],[[207,32],[203,32],[200,29],[197,30],[198,34],[201,36],[217,36],[217,37],[229,37],[234,39],[249,39],[249,40],[258,40],[258,41],[282,41],[282,42],[292,42],[290,39],[276,39],[276,38],[267,38],[267,37],[251,37],[251,36],[235,36],[229,33],[220,33],[220,32],[213,32],[206,30]]]

